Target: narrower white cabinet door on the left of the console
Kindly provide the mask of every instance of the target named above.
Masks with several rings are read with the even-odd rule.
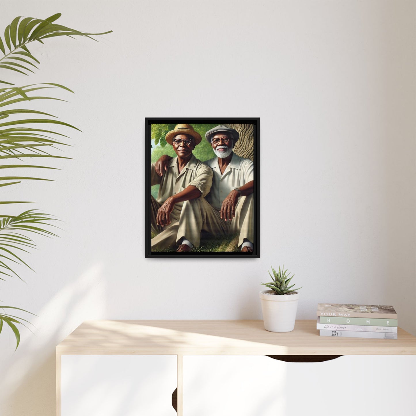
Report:
[[[176,355],[62,355],[62,416],[176,416]]]

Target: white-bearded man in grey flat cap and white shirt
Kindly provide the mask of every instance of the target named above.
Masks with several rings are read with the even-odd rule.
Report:
[[[209,205],[200,201],[205,210],[201,229],[214,235],[240,232],[238,248],[253,253],[254,164],[233,152],[240,137],[237,130],[220,125],[208,130],[205,137],[217,157],[203,162],[213,171],[213,184],[206,196]],[[156,171],[166,169],[169,160],[169,156],[159,158]]]

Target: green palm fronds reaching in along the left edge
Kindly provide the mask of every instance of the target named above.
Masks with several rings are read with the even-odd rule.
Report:
[[[72,38],[82,36],[96,40],[92,36],[111,32],[111,30],[103,33],[80,32],[55,23],[60,16],[61,14],[57,13],[45,20],[34,17],[22,18],[22,16],[13,19],[10,25],[5,28],[4,39],[0,37],[0,50],[3,54],[0,58],[2,77],[7,74],[10,77],[12,75],[15,77],[28,76],[38,69],[37,64],[40,62],[28,47],[31,42],[36,41],[43,44],[45,39],[57,36]],[[31,49],[32,46],[30,45]],[[0,83],[5,85],[0,88],[0,159],[5,162],[0,168],[7,169],[5,176],[0,176],[0,187],[15,186],[22,181],[52,181],[52,179],[38,177],[31,172],[37,172],[39,169],[42,171],[48,169],[50,172],[52,169],[57,169],[46,166],[43,162],[45,158],[68,159],[55,154],[61,146],[69,146],[67,143],[69,136],[56,131],[56,127],[79,129],[64,121],[59,121],[52,114],[24,107],[25,104],[28,104],[27,102],[37,102],[36,100],[65,101],[45,95],[45,90],[72,91],[56,83],[16,87],[10,81],[14,81],[14,79],[0,80]],[[37,160],[41,162],[35,162]],[[22,169],[24,172],[30,173],[21,176]],[[4,190],[2,190],[1,207],[29,202],[31,201],[7,201],[4,197]],[[16,265],[24,265],[32,270],[22,258],[36,247],[34,238],[37,235],[57,236],[52,231],[57,228],[56,221],[57,219],[53,215],[35,209],[24,210],[18,215],[3,213],[2,210],[0,214],[0,279],[2,284],[10,278],[25,281],[15,271]],[[30,312],[20,307],[8,305],[0,305],[0,309],[2,310],[0,312],[0,333],[5,326],[10,327],[16,338],[17,349],[20,342],[19,325],[29,324],[27,319],[21,317],[22,312]]]

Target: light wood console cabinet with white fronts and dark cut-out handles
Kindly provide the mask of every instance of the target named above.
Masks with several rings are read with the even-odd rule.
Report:
[[[87,321],[56,348],[57,416],[176,415],[173,393],[179,416],[407,416],[415,374],[401,328],[365,339],[320,337],[316,320],[286,333],[260,320]]]

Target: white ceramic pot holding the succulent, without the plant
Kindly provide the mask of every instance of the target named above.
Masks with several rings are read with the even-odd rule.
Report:
[[[272,290],[260,292],[264,327],[271,332],[293,331],[296,321],[299,293],[291,295],[273,295]]]

